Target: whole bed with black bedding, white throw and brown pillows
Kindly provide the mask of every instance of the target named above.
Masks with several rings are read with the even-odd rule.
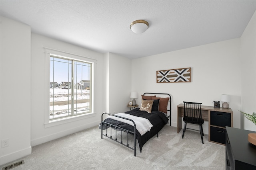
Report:
[[[143,145],[171,120],[171,96],[166,93],[144,93],[141,106],[124,113],[102,113],[101,138],[107,137],[132,150],[136,156],[136,141]],[[104,115],[108,115],[103,120]],[[170,119],[170,120],[169,120]],[[171,125],[171,121],[170,121]],[[133,145],[129,144],[133,139]],[[136,140],[137,139],[137,140]]]

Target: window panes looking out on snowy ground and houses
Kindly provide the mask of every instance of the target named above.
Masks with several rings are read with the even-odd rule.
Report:
[[[92,112],[92,63],[50,55],[50,121]]]

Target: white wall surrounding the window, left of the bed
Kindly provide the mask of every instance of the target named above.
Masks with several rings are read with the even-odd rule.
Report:
[[[92,117],[80,117],[78,120],[46,127],[45,114],[49,113],[49,108],[45,107],[48,101],[45,95],[45,87],[48,87],[48,69],[46,68],[46,56],[44,47],[65,51],[68,53],[96,59],[94,65],[94,113]],[[31,145],[35,146],[70,133],[74,133],[100,123],[101,113],[104,111],[103,82],[103,54],[77,47],[62,41],[44,37],[35,33],[31,34]]]

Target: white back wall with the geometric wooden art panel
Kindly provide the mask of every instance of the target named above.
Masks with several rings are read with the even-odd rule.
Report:
[[[202,102],[213,106],[221,94],[231,95],[234,127],[240,128],[240,39],[201,45],[169,53],[132,60],[132,89],[169,93],[172,96],[171,124],[177,126],[177,105],[183,101]],[[192,82],[156,83],[156,71],[192,68]],[[138,99],[137,103],[140,102]],[[221,102],[222,104],[222,102]],[[208,134],[208,122],[203,125]]]

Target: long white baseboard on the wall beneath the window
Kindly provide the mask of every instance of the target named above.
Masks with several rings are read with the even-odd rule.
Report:
[[[53,134],[50,134],[50,135],[47,135],[47,136],[44,136],[44,137],[33,139],[33,140],[31,140],[31,146],[34,147],[36,145],[40,145],[42,143],[46,143],[46,142],[52,141],[54,139],[58,139],[60,137],[66,136],[66,135],[70,135],[72,133],[76,133],[76,132],[82,131],[84,129],[94,127],[96,125],[99,125],[99,121],[95,121],[95,122],[92,122],[92,123],[87,123],[86,125],[81,125],[81,126],[78,126],[78,127],[74,127],[72,129],[65,129],[64,131],[60,131],[58,133],[53,133]]]

